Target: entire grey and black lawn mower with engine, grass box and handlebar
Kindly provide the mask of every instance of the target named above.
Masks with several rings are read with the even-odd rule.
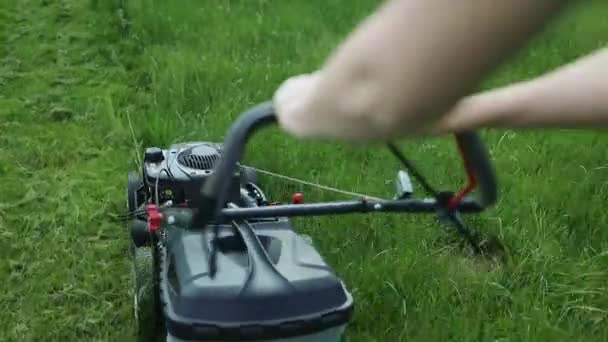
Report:
[[[472,132],[456,135],[468,184],[436,191],[392,143],[408,169],[390,199],[303,203],[270,200],[259,169],[240,163],[249,137],[276,122],[271,103],[240,115],[223,143],[147,148],[141,172],[128,176],[134,311],[140,341],[340,341],[353,296],[295,216],[431,213],[452,222],[482,253],[461,213],[495,203],[487,151]],[[410,174],[430,193],[413,196]],[[478,188],[479,196],[473,196]]]

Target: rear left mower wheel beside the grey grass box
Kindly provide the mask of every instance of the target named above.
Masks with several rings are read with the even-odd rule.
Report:
[[[156,277],[152,248],[136,248],[133,258],[133,313],[137,341],[159,341],[161,318],[157,311]]]

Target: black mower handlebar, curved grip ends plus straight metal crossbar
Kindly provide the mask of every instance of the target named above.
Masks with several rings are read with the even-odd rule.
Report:
[[[220,158],[218,163],[215,165],[213,174],[209,177],[201,189],[202,202],[197,210],[197,218],[194,222],[196,225],[205,226],[210,220],[219,218],[224,213],[227,214],[227,216],[232,217],[241,216],[239,213],[241,213],[242,216],[251,217],[255,216],[256,212],[258,215],[265,216],[264,214],[269,214],[271,212],[277,214],[278,211],[281,211],[277,210],[278,208],[260,208],[256,210],[245,208],[223,208],[231,182],[230,175],[235,172],[237,163],[243,155],[244,147],[248,139],[255,130],[275,122],[276,116],[274,107],[272,102],[269,101],[263,102],[249,109],[232,124],[224,141],[223,157]],[[479,210],[482,210],[483,208],[494,204],[497,198],[497,182],[488,153],[481,139],[474,132],[456,134],[456,140],[460,153],[465,162],[465,168],[469,177],[469,184],[463,191],[456,194],[456,196],[452,198],[450,205],[453,207],[453,209],[457,209],[464,204],[464,207],[468,207],[468,209],[471,210],[472,203],[469,201],[465,201],[468,202],[466,204],[461,202],[463,202],[463,197],[467,193],[472,191],[475,187],[479,187],[481,195],[480,201],[475,203],[473,207],[477,207]],[[403,201],[385,201],[382,203],[382,207],[384,207],[384,209],[387,208],[387,205],[388,207],[391,207],[389,204],[391,202],[401,203]],[[363,203],[363,205],[361,205],[361,203]],[[372,210],[367,210],[368,207],[365,203],[366,202],[348,202],[349,205],[345,206],[329,205],[323,210],[318,209],[325,206],[323,204],[318,204],[317,206],[320,207],[315,207],[317,210],[313,209],[311,211],[307,211],[306,209],[312,209],[314,206],[310,208],[304,206],[301,207],[301,209],[295,209],[297,212],[294,212],[294,214],[296,216],[298,216],[298,214],[302,215],[305,212],[316,212],[317,214],[321,214],[321,212],[326,213],[326,210],[331,210],[332,207],[337,211],[341,211],[341,209],[350,209],[350,211],[375,211],[373,208],[371,208]],[[405,203],[407,203],[407,205],[403,205]],[[416,211],[416,209],[420,209],[419,211],[429,211],[431,206],[435,206],[434,202],[429,203],[428,201],[421,205],[416,205],[413,203],[415,203],[414,200],[405,201],[402,203],[402,205],[394,206],[394,211],[400,211],[399,209],[402,211]],[[369,204],[369,201],[367,204]],[[294,207],[295,206],[284,207],[284,214],[293,211]]]

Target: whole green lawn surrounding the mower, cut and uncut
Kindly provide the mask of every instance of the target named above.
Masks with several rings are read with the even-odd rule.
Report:
[[[129,340],[127,235],[113,215],[142,149],[222,139],[279,82],[322,63],[379,1],[128,0],[126,26],[117,3],[0,6],[2,341]],[[580,3],[483,87],[605,45],[606,4]],[[297,220],[354,293],[350,341],[608,339],[606,136],[483,137],[501,200],[470,222],[507,244],[498,270],[464,258],[429,217]],[[461,175],[450,139],[402,145],[436,184],[460,184],[448,176]],[[399,167],[379,146],[302,143],[276,128],[252,139],[246,162],[377,196],[392,195]],[[269,185],[279,200],[295,190],[338,198]]]

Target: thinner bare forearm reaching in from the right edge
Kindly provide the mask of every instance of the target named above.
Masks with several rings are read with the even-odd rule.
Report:
[[[541,77],[460,101],[436,132],[494,128],[607,128],[608,48]]]

